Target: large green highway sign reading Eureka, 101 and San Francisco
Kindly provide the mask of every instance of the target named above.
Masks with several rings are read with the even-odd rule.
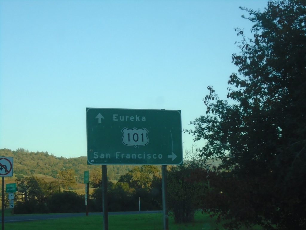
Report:
[[[86,108],[88,164],[181,164],[180,110]]]

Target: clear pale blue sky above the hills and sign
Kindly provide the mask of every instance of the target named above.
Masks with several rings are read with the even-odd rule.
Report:
[[[192,128],[237,72],[239,6],[267,0],[0,1],[0,148],[86,156],[86,107],[178,109]]]

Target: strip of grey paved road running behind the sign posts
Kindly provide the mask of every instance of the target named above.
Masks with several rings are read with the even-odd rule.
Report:
[[[126,214],[143,214],[143,213],[162,213],[162,211],[141,211],[141,212],[109,212],[108,215],[126,215]],[[89,213],[92,215],[101,215],[103,213]],[[85,213],[61,213],[61,214],[32,214],[32,215],[13,215],[5,216],[4,222],[18,222],[18,221],[30,221],[30,220],[48,220],[48,219],[58,219],[65,217],[80,217],[86,216]],[[0,218],[0,222],[2,219]]]

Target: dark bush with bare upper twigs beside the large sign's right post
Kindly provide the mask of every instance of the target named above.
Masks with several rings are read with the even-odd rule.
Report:
[[[196,210],[203,207],[202,197],[208,189],[209,166],[199,161],[198,151],[185,151],[182,165],[171,166],[167,171],[168,204],[175,223],[189,223],[194,220]]]

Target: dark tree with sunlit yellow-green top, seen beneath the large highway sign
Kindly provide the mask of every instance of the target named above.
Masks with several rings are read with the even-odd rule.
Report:
[[[135,166],[121,175],[116,184],[108,181],[108,210],[138,211],[139,199],[141,210],[161,209],[161,178],[159,168],[154,165]],[[102,211],[102,189],[96,187],[91,196],[95,210]]]

